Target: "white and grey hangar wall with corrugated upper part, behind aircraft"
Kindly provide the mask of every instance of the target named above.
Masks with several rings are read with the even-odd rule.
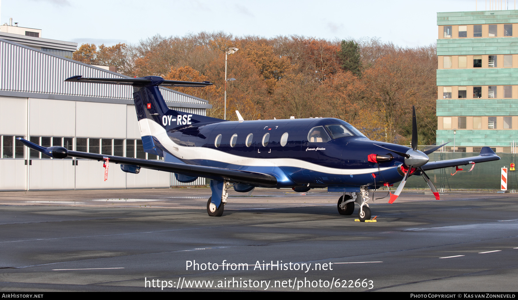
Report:
[[[105,182],[103,162],[51,159],[16,142],[22,137],[42,146],[162,159],[143,152],[131,86],[63,81],[74,75],[126,77],[0,39],[0,190],[205,185],[204,178],[183,184],[162,171],[125,173],[116,164],[110,164]],[[178,111],[205,115],[211,107],[170,89],[162,94]]]

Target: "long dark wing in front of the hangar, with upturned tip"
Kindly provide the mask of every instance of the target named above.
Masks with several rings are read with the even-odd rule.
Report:
[[[130,157],[95,154],[88,152],[68,151],[64,147],[42,147],[22,138],[18,138],[18,140],[20,140],[20,142],[22,142],[25,146],[54,158],[65,158],[67,156],[71,156],[86,159],[97,159],[99,161],[108,158],[110,162],[121,163],[124,165],[132,165],[146,169],[174,172],[188,176],[202,176],[205,178],[219,180],[228,179],[239,183],[264,187],[273,186],[277,184],[277,178],[270,174],[225,168],[186,165],[184,163],[167,162],[161,160],[147,160]]]

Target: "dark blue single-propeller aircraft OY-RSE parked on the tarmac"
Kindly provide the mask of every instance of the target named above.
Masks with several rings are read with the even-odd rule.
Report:
[[[443,145],[419,151],[415,109],[412,116],[412,147],[371,141],[348,122],[336,118],[226,121],[170,110],[159,86],[204,87],[208,81],[140,78],[67,78],[74,84],[98,83],[133,86],[133,97],[144,150],[164,157],[145,160],[68,151],[64,147],[42,147],[19,138],[27,147],[53,158],[67,156],[121,164],[124,172],[140,168],[174,172],[180,182],[198,176],[210,179],[212,196],[207,202],[210,216],[221,216],[227,190],[247,193],[255,187],[291,187],[296,192],[327,187],[339,192],[338,212],[350,215],[359,205],[360,221],[370,220],[369,189],[392,186],[389,203],[399,196],[410,175],[422,175],[436,199],[439,193],[425,170],[457,167],[498,160],[489,147],[473,157],[428,161]]]

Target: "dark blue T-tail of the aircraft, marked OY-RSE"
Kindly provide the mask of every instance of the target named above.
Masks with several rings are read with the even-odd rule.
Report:
[[[158,141],[150,134],[150,130],[146,130],[146,128],[150,128],[149,123],[156,123],[156,125],[168,130],[183,125],[198,123],[208,124],[224,121],[222,119],[170,110],[159,89],[159,86],[205,87],[212,85],[208,81],[196,83],[190,81],[164,80],[164,78],[160,76],[146,76],[140,78],[83,78],[82,76],[73,76],[65,79],[65,81],[133,86],[133,99],[135,102],[135,110],[137,111],[144,151],[162,157],[164,156],[163,151],[160,149],[162,147],[156,147]],[[143,123],[146,125],[143,125]]]

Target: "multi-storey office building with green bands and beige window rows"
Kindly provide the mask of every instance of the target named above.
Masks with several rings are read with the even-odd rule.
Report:
[[[438,12],[437,25],[437,143],[510,152],[518,142],[518,10]]]

